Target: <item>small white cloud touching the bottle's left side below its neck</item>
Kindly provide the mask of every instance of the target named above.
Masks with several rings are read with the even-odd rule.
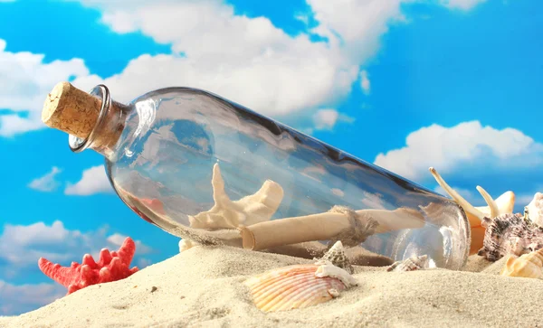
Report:
[[[113,192],[108,175],[103,165],[93,166],[83,171],[81,180],[77,183],[67,183],[64,193],[67,195],[88,196],[95,193]]]

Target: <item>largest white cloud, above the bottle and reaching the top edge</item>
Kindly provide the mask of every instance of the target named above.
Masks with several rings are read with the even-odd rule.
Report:
[[[399,0],[344,0],[340,5],[312,0],[319,22],[312,33],[328,37],[327,43],[311,42],[305,33],[292,37],[265,17],[236,15],[218,0],[81,1],[99,7],[112,30],[139,31],[171,43],[184,56],[142,55],[116,76],[82,77],[74,81],[77,85],[88,89],[103,82],[120,101],[150,89],[186,85],[269,116],[329,107],[345,98],[358,79],[359,65],[376,53],[386,24],[401,17]]]

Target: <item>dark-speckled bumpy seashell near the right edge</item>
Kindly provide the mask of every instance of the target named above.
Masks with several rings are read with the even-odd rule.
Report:
[[[543,247],[543,228],[519,213],[503,214],[494,220],[484,218],[486,229],[478,255],[497,261],[508,254],[517,257]]]

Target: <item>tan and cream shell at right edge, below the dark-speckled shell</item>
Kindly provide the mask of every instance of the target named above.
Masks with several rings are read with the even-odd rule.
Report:
[[[543,248],[520,257],[511,254],[500,275],[539,278],[543,274],[541,267],[543,267]]]

